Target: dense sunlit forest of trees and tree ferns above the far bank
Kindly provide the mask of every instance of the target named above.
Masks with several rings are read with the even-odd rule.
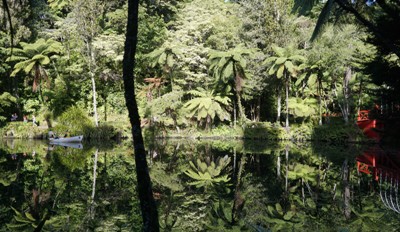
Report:
[[[70,107],[93,127],[124,125],[125,1],[6,2],[13,29],[1,11],[0,125],[13,113],[64,124]],[[312,130],[330,115],[352,124],[374,103],[393,109],[399,57],[385,41],[398,48],[397,32],[380,41],[359,17],[337,13],[337,2],[347,1],[301,9],[291,0],[143,1],[135,66],[142,125],[189,134],[250,122]],[[387,32],[394,19],[382,15],[389,7],[398,17],[399,6],[382,2],[351,7]],[[310,41],[321,15],[323,33]]]

